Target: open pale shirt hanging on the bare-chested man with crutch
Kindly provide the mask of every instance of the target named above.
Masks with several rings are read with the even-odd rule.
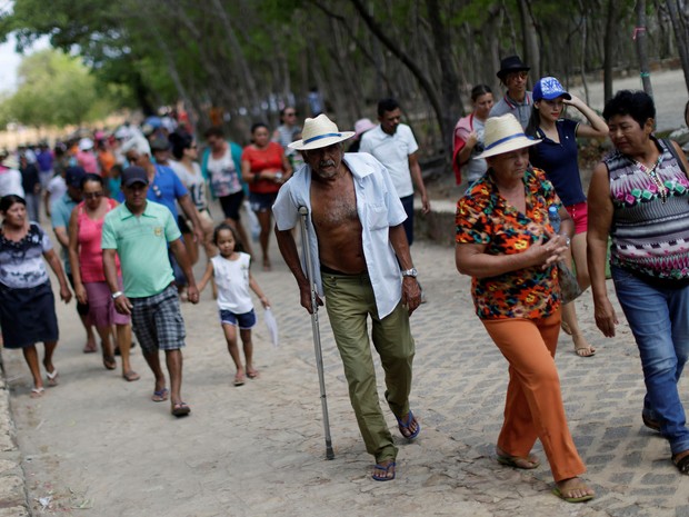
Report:
[[[361,221],[363,256],[371,279],[378,316],[385,318],[400,301],[402,276],[395,249],[390,243],[390,227],[401,225],[407,215],[386,168],[370,155],[346,153],[344,163],[355,180],[357,213]],[[299,225],[299,207],[307,207],[308,242],[313,262],[316,286],[320,296],[323,288],[320,275],[318,238],[311,220],[311,168],[301,167],[287,181],[276,199],[272,213],[278,230],[284,231]],[[304,258],[301,258],[304,268]],[[304,269],[306,271],[306,269]]]

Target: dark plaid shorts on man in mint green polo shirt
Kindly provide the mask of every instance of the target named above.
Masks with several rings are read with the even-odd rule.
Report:
[[[179,309],[177,287],[146,298],[130,298],[131,325],[144,354],[178,350],[184,346],[184,320]]]

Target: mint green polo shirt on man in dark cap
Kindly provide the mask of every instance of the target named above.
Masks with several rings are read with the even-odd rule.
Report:
[[[128,298],[158,295],[174,280],[168,242],[180,237],[170,210],[153,201],[138,217],[126,203],[106,215],[101,248],[117,250]]]

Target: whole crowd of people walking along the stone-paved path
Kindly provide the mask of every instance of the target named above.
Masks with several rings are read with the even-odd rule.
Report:
[[[590,315],[577,315],[560,282],[568,268],[576,269],[579,288],[592,287],[596,325],[613,336],[608,253],[640,351],[642,421],[669,441],[671,461],[689,474],[689,429],[677,388],[689,357],[689,163],[679,146],[653,136],[648,95],[620,91],[601,117],[555,77],[538,78],[529,91],[529,72],[518,56],[505,58],[497,72],[505,96],[495,102],[491,89],[477,84],[471,112],[457,122],[452,169],[467,188],[457,202],[455,258],[458,272],[471,278],[468,295],[479,320],[509,365],[497,461],[538,468],[531,449],[539,439],[553,494],[581,503],[595,493],[580,477],[586,467],[567,422],[555,355],[560,330],[571,335],[578,357],[597,349],[579,326]],[[572,118],[565,117],[567,108]],[[201,153],[188,129],[149,123],[148,135],[122,126],[54,152],[26,149],[18,169],[3,157],[0,326],[4,347],[23,351],[31,397],[46,392],[37,342],[44,347],[47,384],[59,382],[58,320],[44,261],[60,298],[76,296],[83,351],[97,351],[99,340],[104,368],[116,369],[119,356],[122,378],[137,381],[133,330],[154,377],[151,400],[169,400],[173,416],[191,412],[182,397],[187,335],[180,301],[197,304],[209,285],[236,369],[232,384],[258,378],[250,291],[263,308],[270,302],[250,268],[260,259],[264,271],[272,269],[274,231],[303,308],[312,314],[313,301],[326,300],[357,424],[376,460],[372,479],[395,479],[399,450],[376,388],[369,325],[385,370],[385,400],[400,435],[413,440],[421,422],[411,409],[410,317],[428,294],[410,247],[415,196],[422,215],[431,201],[402,108],[382,99],[377,117],[378,123],[363,118],[355,131],[342,131],[324,113],[301,126],[297,110],[284,107],[280,126],[271,132],[256,122],[243,149],[210,128]],[[607,137],[613,149],[596,166],[587,197],[578,141]],[[213,199],[220,213],[211,211]],[[63,264],[40,226],[41,207]],[[310,230],[299,237],[310,250],[313,279],[297,247],[304,213]],[[249,218],[254,228],[248,232]],[[201,249],[206,271],[197,282],[192,266]]]

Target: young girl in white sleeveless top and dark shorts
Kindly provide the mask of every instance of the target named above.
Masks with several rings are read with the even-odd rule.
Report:
[[[251,328],[256,325],[256,312],[251,301],[251,289],[258,296],[263,308],[270,307],[268,298],[249,270],[251,256],[243,252],[236,230],[228,223],[219,225],[213,231],[213,243],[220,255],[211,258],[198,288],[203,290],[211,277],[218,286],[218,308],[220,324],[227,339],[230,357],[237,367],[234,386],[242,386],[246,377],[254,379],[259,372],[253,367],[253,344]],[[237,327],[243,345],[244,366],[237,344]]]

